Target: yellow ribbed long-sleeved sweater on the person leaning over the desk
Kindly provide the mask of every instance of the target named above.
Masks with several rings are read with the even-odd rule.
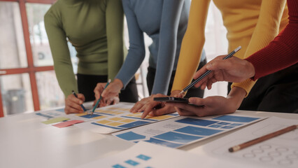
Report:
[[[197,70],[205,42],[204,30],[210,1],[192,0],[172,90],[183,90]],[[228,52],[241,45],[242,49],[234,56],[242,59],[268,45],[288,24],[286,0],[213,1],[222,13],[227,28]],[[255,81],[248,79],[233,83],[232,87],[242,87],[248,94],[253,85]]]

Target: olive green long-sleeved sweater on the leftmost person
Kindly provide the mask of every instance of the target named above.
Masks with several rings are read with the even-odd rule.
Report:
[[[67,41],[76,48],[78,73],[118,73],[124,59],[123,9],[120,0],[58,0],[45,13],[54,68],[65,97],[78,92]]]

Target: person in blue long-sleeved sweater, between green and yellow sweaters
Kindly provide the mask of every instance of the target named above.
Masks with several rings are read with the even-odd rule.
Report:
[[[120,71],[113,82],[98,83],[95,96],[103,97],[101,106],[108,104],[108,99],[118,96],[134,77],[145,58],[143,33],[152,38],[149,46],[150,57],[147,85],[150,94],[170,94],[176,72],[180,45],[187,29],[190,0],[122,0],[129,31],[129,51]],[[205,53],[201,56],[201,66],[206,64]],[[192,88],[187,97],[203,97],[204,90]],[[192,94],[192,95],[190,95]],[[141,102],[146,102],[145,98]],[[138,103],[137,103],[138,104]]]

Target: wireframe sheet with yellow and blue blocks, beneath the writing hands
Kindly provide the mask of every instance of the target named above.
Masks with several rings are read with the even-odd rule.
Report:
[[[92,115],[88,113],[65,114],[64,109],[41,111],[39,113],[36,113],[36,115],[46,118],[50,121],[57,122],[64,121],[59,120],[59,118],[68,118],[69,123],[76,124],[76,127],[80,127],[83,130],[97,132],[100,134],[109,134],[111,132],[117,132],[132,127],[147,125],[150,123],[155,123],[157,121],[175,118],[178,116],[178,113],[171,113],[164,116],[147,116],[145,119],[141,119],[142,113],[129,112],[129,110],[132,109],[132,106],[134,106],[133,103],[120,102],[119,104],[115,104],[112,106],[97,108]],[[48,120],[43,121],[42,123],[57,123],[50,122]],[[66,126],[69,125],[66,123],[65,127]]]

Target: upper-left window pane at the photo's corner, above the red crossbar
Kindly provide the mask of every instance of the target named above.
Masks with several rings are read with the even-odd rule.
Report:
[[[27,67],[20,7],[0,1],[0,69]]]

